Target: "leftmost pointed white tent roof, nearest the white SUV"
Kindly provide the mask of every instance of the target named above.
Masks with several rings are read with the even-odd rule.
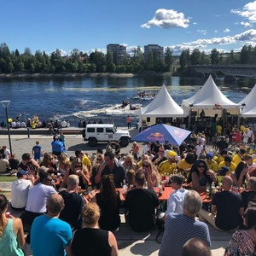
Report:
[[[172,99],[172,96],[166,90],[166,86],[163,85],[155,96],[154,100],[150,102],[146,107],[141,108],[142,115],[148,117],[185,117],[188,115],[183,108],[179,107]]]

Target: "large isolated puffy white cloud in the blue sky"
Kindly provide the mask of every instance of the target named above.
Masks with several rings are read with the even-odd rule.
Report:
[[[189,26],[189,19],[184,18],[183,13],[177,13],[173,9],[158,9],[153,19],[144,23],[141,27],[150,28],[152,26],[161,26],[166,29],[176,27],[186,28]]]

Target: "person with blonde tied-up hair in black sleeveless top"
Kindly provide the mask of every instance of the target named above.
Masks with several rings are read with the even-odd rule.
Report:
[[[100,217],[100,207],[95,202],[90,202],[84,207],[84,228],[77,230],[73,235],[71,248],[74,256],[84,256],[84,254],[119,255],[117,241],[113,233],[99,228]]]

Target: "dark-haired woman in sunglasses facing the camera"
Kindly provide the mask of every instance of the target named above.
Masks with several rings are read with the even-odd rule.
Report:
[[[217,183],[217,177],[215,172],[208,169],[205,160],[196,160],[189,172],[188,183],[192,182],[192,186],[195,190],[205,191],[207,189],[207,183]]]

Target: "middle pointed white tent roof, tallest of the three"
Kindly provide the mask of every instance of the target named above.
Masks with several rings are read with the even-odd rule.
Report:
[[[238,104],[231,102],[224,94],[218,89],[210,75],[207,82],[201,87],[194,96],[187,100],[183,100],[182,106],[189,108],[214,108],[216,105],[220,108],[237,108]]]

